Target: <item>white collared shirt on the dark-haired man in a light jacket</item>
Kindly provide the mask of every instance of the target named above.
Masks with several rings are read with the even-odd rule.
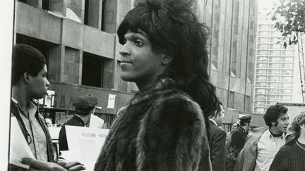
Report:
[[[269,170],[277,151],[285,144],[285,137],[273,137],[267,129],[258,140],[255,171]]]

